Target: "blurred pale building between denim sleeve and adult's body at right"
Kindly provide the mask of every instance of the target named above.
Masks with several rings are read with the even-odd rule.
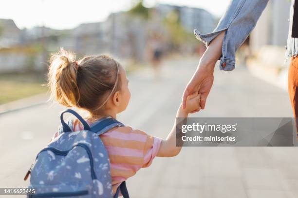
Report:
[[[267,82],[287,89],[285,52],[289,32],[291,0],[270,0],[250,34],[251,56],[246,65]]]

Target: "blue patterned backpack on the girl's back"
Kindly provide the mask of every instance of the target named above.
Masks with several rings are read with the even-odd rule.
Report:
[[[64,113],[71,113],[83,124],[83,131],[72,132],[73,124],[66,124]],[[109,154],[99,135],[117,126],[124,126],[112,117],[88,123],[75,111],[68,109],[60,115],[60,135],[43,148],[28,170],[31,173],[29,189],[34,194],[27,198],[112,198],[112,179]],[[129,198],[125,181],[116,191]]]

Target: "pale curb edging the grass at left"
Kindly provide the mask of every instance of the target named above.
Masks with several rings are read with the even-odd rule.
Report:
[[[19,99],[16,101],[8,102],[0,105],[0,115],[18,111],[21,109],[37,106],[40,104],[45,104],[49,99],[48,93],[38,94],[24,99]]]

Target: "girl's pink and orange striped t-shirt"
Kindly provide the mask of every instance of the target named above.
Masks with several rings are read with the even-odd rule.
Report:
[[[83,126],[75,119],[73,131],[80,130]],[[58,135],[56,132],[53,139]],[[135,175],[140,168],[151,165],[162,142],[158,137],[127,126],[113,128],[101,134],[100,138],[110,157],[113,194],[122,181]]]

